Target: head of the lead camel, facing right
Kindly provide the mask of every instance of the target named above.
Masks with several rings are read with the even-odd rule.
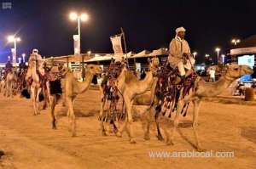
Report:
[[[227,65],[225,76],[230,79],[237,79],[244,75],[253,74],[253,69],[248,65]]]

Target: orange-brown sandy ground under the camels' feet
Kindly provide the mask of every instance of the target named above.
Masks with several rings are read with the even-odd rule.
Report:
[[[50,126],[49,110],[32,115],[32,102],[27,99],[5,99],[0,96],[0,149],[6,155],[0,168],[256,168],[255,106],[203,102],[199,118],[201,144],[207,151],[230,151],[235,157],[150,157],[153,151],[194,151],[191,110],[182,119],[182,135],[174,145],[166,146],[151,132],[151,140],[143,140],[142,122],[134,123],[137,144],[111,135],[103,137],[99,130],[98,92],[90,90],[75,103],[78,137],[67,131],[65,108],[57,107],[58,129]]]

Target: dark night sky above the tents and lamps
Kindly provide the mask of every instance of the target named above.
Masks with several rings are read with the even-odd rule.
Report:
[[[256,34],[255,0],[84,0],[84,1],[1,1],[0,62],[7,60],[12,44],[6,37],[21,38],[18,54],[38,48],[43,56],[73,54],[77,23],[71,11],[86,12],[90,20],[81,25],[81,50],[85,53],[113,53],[109,37],[123,27],[128,51],[140,52],[168,47],[175,28],[187,30],[186,39],[198,61],[214,48],[230,48],[232,37]],[[12,3],[3,9],[2,3]],[[213,55],[214,54],[214,55]]]

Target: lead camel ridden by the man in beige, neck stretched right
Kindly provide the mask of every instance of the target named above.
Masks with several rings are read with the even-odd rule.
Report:
[[[189,92],[189,95],[185,96],[183,99],[180,97],[177,103],[177,112],[174,118],[174,127],[172,128],[172,135],[166,132],[166,144],[172,145],[173,138],[177,132],[177,126],[179,123],[180,116],[182,115],[183,105],[193,102],[193,132],[195,136],[195,148],[201,149],[201,144],[198,140],[197,126],[198,126],[198,114],[200,110],[201,101],[207,97],[216,97],[218,94],[222,93],[224,89],[230,86],[230,84],[236,79],[240,78],[246,74],[252,74],[253,70],[247,65],[227,65],[226,72],[218,82],[205,82],[201,77],[198,77],[195,81],[195,90]],[[154,107],[152,107],[154,109]],[[158,126],[157,126],[158,127]],[[162,138],[159,127],[158,127],[158,138]],[[147,131],[145,132],[145,138],[149,138],[149,123]]]

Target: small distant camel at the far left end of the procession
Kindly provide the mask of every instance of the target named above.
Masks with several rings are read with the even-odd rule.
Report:
[[[14,97],[13,89],[14,89],[14,87],[16,85],[17,80],[18,80],[18,77],[17,77],[15,71],[14,70],[9,71],[9,73],[6,76],[6,80],[5,80],[5,92],[4,92],[4,95],[6,97],[11,97],[11,98]]]

